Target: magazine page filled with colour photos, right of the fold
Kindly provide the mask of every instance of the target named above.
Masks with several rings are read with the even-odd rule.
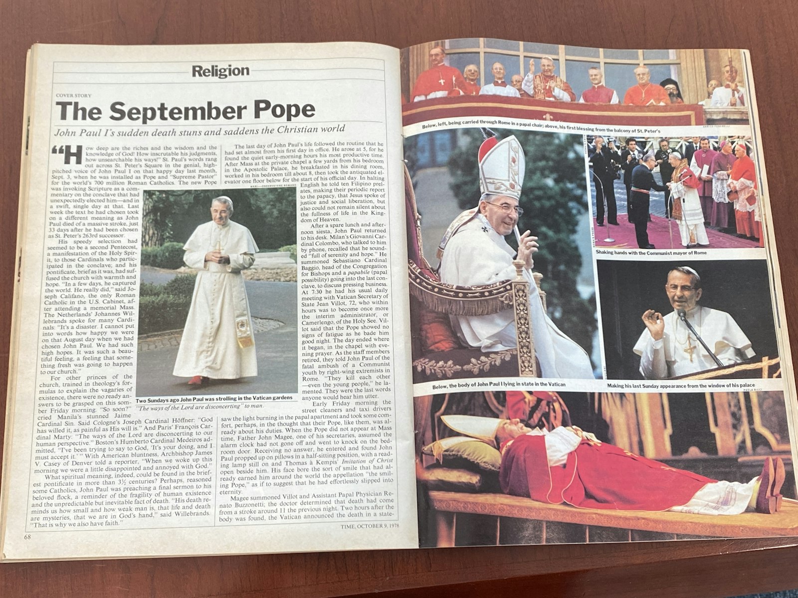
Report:
[[[420,545],[796,535],[749,53],[401,58]]]

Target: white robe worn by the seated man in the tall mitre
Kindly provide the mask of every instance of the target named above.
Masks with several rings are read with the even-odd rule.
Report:
[[[440,281],[451,285],[492,285],[516,277],[512,260],[516,251],[493,230],[482,214],[448,239],[440,262]],[[538,287],[528,272],[529,316],[535,341],[535,356],[542,378],[592,379],[587,352],[561,332],[543,312]],[[516,348],[516,321],[512,309],[486,316],[452,316],[452,327],[465,344],[484,352]]]

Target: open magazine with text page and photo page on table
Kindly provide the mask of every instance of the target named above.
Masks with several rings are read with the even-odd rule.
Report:
[[[798,534],[745,50],[30,50],[2,559]]]

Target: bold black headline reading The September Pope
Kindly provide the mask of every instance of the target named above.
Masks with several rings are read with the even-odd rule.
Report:
[[[60,101],[55,105],[60,108],[60,120],[100,120],[103,116],[102,109],[97,106],[81,106],[80,102]],[[167,106],[161,102],[157,106],[132,106],[124,102],[113,102],[110,105],[111,120],[129,120],[147,124],[155,120],[240,120],[243,118],[247,106],[217,106],[208,101],[199,106]],[[272,104],[269,100],[255,100],[252,104],[255,118],[272,116],[288,122],[304,116],[316,116],[313,104]]]

